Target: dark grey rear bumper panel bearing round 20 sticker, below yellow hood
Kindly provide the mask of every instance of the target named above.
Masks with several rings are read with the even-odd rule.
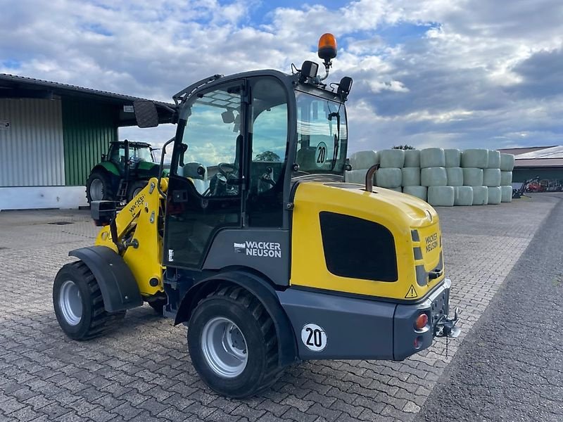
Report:
[[[445,279],[415,305],[297,288],[277,295],[291,321],[300,359],[403,360],[432,344],[437,321],[448,314],[450,286]],[[429,323],[417,331],[415,319],[421,313],[428,315]],[[317,345],[311,328],[322,331]],[[419,347],[415,347],[417,338]]]

